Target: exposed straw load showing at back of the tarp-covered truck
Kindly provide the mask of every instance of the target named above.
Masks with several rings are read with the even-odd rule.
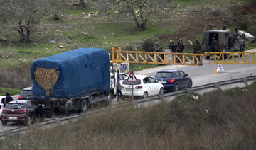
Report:
[[[36,67],[34,72],[36,83],[46,90],[46,96],[52,95],[52,89],[58,80],[60,71],[53,68]]]

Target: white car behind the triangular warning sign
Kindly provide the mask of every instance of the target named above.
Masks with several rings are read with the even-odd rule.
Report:
[[[159,83],[153,76],[136,75],[137,82],[127,82],[127,79],[122,81],[122,95],[132,96],[132,85],[134,88],[134,96],[156,96],[164,93],[163,84]]]

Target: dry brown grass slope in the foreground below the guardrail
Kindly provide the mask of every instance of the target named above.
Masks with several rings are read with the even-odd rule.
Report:
[[[256,83],[6,137],[6,149],[255,149]]]

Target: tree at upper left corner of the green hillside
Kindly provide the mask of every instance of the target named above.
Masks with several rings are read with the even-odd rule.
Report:
[[[23,43],[31,42],[30,36],[41,18],[50,12],[50,0],[0,0],[0,21],[20,35]]]

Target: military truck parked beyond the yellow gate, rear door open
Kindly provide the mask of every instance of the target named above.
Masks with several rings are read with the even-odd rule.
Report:
[[[213,39],[217,42],[216,47],[211,45]],[[203,32],[203,51],[204,52],[235,52],[245,51],[245,45],[249,44],[255,37],[241,30],[235,32],[229,28],[213,29]],[[227,55],[224,55],[227,57]],[[210,55],[206,56],[210,59]]]

